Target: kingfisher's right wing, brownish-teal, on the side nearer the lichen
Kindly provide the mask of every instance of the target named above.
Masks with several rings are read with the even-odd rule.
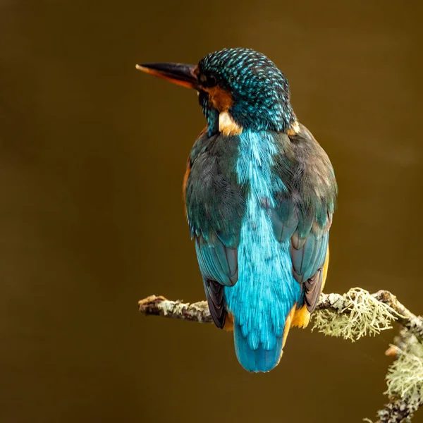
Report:
[[[329,157],[305,126],[283,141],[286,149],[276,169],[286,190],[276,195],[272,221],[276,238],[290,240],[293,276],[302,284],[305,305],[312,312],[324,276],[336,180]]]

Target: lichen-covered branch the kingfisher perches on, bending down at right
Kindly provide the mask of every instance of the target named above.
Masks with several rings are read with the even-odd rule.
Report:
[[[150,295],[140,300],[138,307],[147,316],[213,323],[206,301],[190,304]],[[321,294],[313,316],[312,329],[351,341],[391,329],[391,321],[403,326],[400,336],[395,339],[396,345],[386,352],[386,355],[396,356],[396,360],[386,376],[389,402],[378,412],[376,423],[410,422],[413,413],[423,405],[422,317],[410,312],[387,290],[370,295],[361,288],[353,288],[344,295]]]

